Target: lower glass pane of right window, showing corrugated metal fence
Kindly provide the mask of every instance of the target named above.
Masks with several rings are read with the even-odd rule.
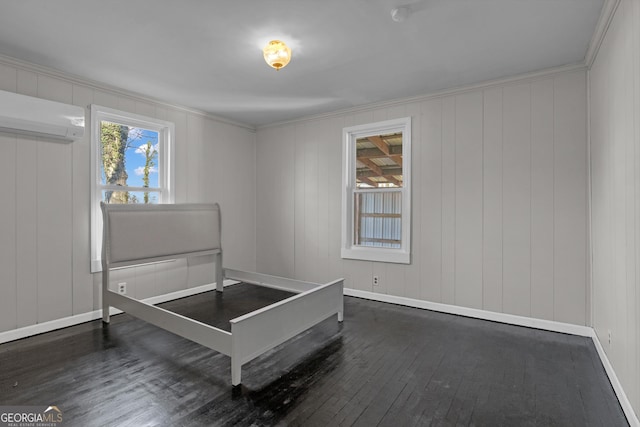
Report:
[[[397,249],[402,244],[402,193],[354,194],[356,246]]]

